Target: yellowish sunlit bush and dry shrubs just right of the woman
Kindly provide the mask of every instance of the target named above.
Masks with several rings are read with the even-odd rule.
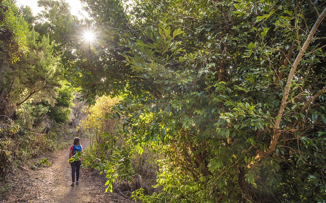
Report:
[[[89,136],[90,140],[90,149],[85,154],[83,165],[86,167],[90,166],[98,172],[106,174],[116,167],[124,168],[130,164],[132,168],[129,168],[130,174],[128,175],[133,177],[133,182],[126,182],[125,178],[128,180],[131,180],[131,178],[121,173],[116,178],[124,182],[120,184],[117,181],[118,186],[116,188],[121,192],[129,194],[131,194],[130,190],[142,188],[148,194],[152,190],[149,186],[154,185],[156,182],[155,172],[158,166],[156,160],[164,155],[159,152],[154,153],[150,147],[138,147],[130,151],[130,156],[126,159],[128,161],[127,164],[113,161],[124,156],[121,154],[122,147],[133,145],[132,136],[123,138],[117,133],[118,121],[116,119],[108,119],[111,107],[118,102],[118,98],[101,96],[96,99],[94,105],[86,108],[87,117],[82,119],[78,126],[85,135]],[[136,184],[136,181],[139,183]],[[109,183],[110,181],[108,181]],[[112,190],[112,182],[109,187]]]

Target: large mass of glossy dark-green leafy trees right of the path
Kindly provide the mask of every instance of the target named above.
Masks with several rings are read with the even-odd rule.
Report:
[[[102,38],[66,52],[67,77],[123,95],[111,116],[132,140],[109,186],[156,145],[171,202],[325,200],[325,1],[84,2]]]

